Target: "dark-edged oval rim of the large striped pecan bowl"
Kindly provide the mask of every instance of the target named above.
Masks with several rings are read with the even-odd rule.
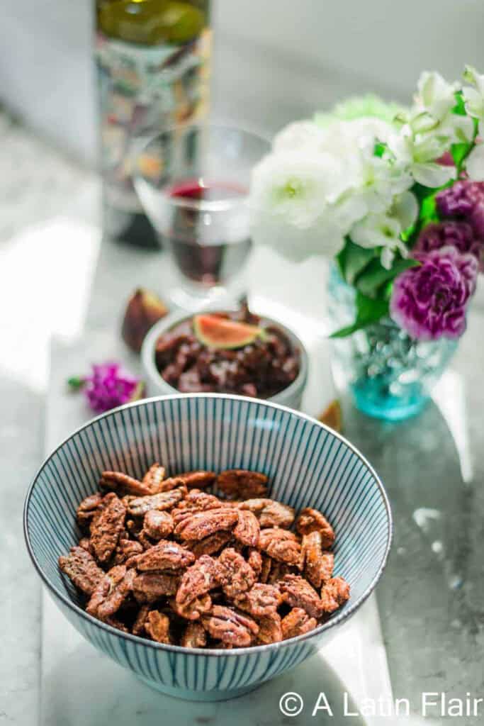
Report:
[[[343,444],[346,444],[348,448],[353,452],[353,454],[358,457],[361,462],[369,469],[369,471],[372,473],[374,481],[377,484],[377,488],[380,491],[380,495],[383,500],[383,504],[385,506],[385,510],[387,513],[387,542],[385,547],[385,552],[382,557],[382,561],[380,563],[380,567],[377,570],[377,573],[374,575],[372,582],[370,582],[369,586],[366,587],[366,590],[364,593],[356,600],[355,603],[352,603],[349,607],[343,606],[343,610],[340,611],[340,613],[337,614],[336,617],[329,619],[326,623],[321,624],[319,627],[314,628],[313,630],[310,630],[307,633],[303,633],[302,635],[297,635],[292,638],[288,638],[287,640],[282,640],[279,643],[267,643],[266,645],[253,645],[249,646],[247,648],[232,648],[231,650],[223,650],[221,648],[185,648],[182,645],[167,645],[165,643],[156,643],[153,640],[147,640],[146,638],[139,637],[137,635],[132,635],[132,633],[125,633],[117,628],[112,627],[111,625],[108,625],[106,623],[103,623],[101,620],[98,620],[97,618],[94,618],[94,616],[89,615],[89,613],[86,613],[85,610],[79,607],[79,605],[76,605],[73,603],[72,600],[70,600],[70,597],[67,597],[63,592],[60,592],[60,590],[57,590],[57,587],[54,587],[54,585],[49,581],[47,576],[44,574],[44,571],[42,570],[41,566],[38,564],[36,560],[36,555],[33,552],[32,544],[30,543],[30,534],[28,531],[28,511],[29,511],[29,505],[30,505],[30,499],[33,494],[33,489],[36,486],[36,481],[38,481],[38,476],[41,474],[42,470],[46,466],[47,462],[52,459],[54,454],[56,454],[60,449],[62,449],[62,446],[65,446],[68,441],[73,439],[74,436],[77,436],[78,433],[81,431],[84,431],[84,429],[89,428],[93,423],[96,421],[102,420],[103,418],[107,418],[111,415],[114,415],[116,412],[134,408],[138,406],[144,406],[147,402],[153,402],[153,401],[165,401],[170,399],[192,399],[192,398],[202,398],[202,399],[210,399],[210,398],[216,398],[216,399],[230,399],[230,400],[236,400],[240,403],[243,403],[244,401],[248,401],[250,403],[255,404],[262,404],[263,406],[268,406],[275,409],[280,409],[292,416],[303,418],[304,420],[309,421],[310,423],[316,423],[319,427],[323,428],[328,433],[331,433],[332,436],[335,436],[337,439],[343,442]],[[242,656],[242,655],[250,655],[250,654],[257,654],[257,653],[265,653],[268,650],[279,650],[279,648],[287,648],[288,646],[293,645],[300,645],[301,643],[304,643],[306,640],[311,640],[311,638],[322,635],[323,632],[327,632],[330,629],[334,628],[336,625],[342,623],[343,621],[347,620],[352,616],[358,608],[363,605],[363,603],[368,599],[368,597],[372,594],[374,588],[377,586],[377,583],[380,580],[380,577],[382,576],[383,571],[385,570],[385,566],[387,565],[388,561],[388,555],[390,553],[390,549],[393,542],[393,516],[392,516],[392,510],[390,507],[390,501],[387,497],[387,492],[385,491],[385,486],[383,486],[382,481],[380,480],[380,477],[378,476],[377,472],[374,470],[372,465],[369,463],[368,460],[364,457],[361,452],[356,448],[356,446],[353,446],[353,444],[348,441],[348,439],[345,439],[344,436],[342,436],[340,433],[335,431],[334,429],[330,428],[324,423],[321,423],[321,421],[317,420],[316,418],[313,418],[312,416],[309,416],[308,414],[295,411],[295,409],[291,409],[287,406],[282,406],[281,404],[274,404],[271,401],[263,401],[262,399],[254,399],[250,398],[248,396],[235,396],[229,393],[179,393],[176,396],[152,396],[147,399],[141,399],[139,401],[132,401],[128,404],[123,404],[123,406],[116,407],[114,409],[110,409],[110,411],[104,412],[99,416],[96,416],[94,418],[89,419],[89,421],[86,421],[86,423],[83,423],[83,425],[79,426],[75,429],[72,433],[70,433],[69,436],[67,436],[63,441],[60,442],[60,444],[57,444],[55,448],[52,450],[52,452],[44,459],[41,466],[36,471],[35,475],[33,476],[32,481],[30,482],[30,485],[27,490],[27,494],[25,495],[25,504],[23,507],[23,532],[24,532],[24,538],[25,538],[25,544],[27,546],[28,554],[30,556],[30,560],[32,560],[33,566],[37,571],[38,576],[40,576],[41,581],[44,582],[44,585],[46,585],[47,589],[52,592],[52,595],[54,596],[54,599],[58,597],[62,603],[67,605],[67,608],[72,610],[77,616],[81,616],[81,620],[86,620],[89,624],[94,625],[96,627],[99,627],[105,631],[109,635],[115,635],[117,637],[124,638],[128,641],[131,641],[134,643],[134,645],[143,645],[147,648],[154,648],[155,650],[165,650],[172,653],[179,653],[184,656],[215,656],[216,658],[224,658],[224,657],[231,657],[231,656]]]

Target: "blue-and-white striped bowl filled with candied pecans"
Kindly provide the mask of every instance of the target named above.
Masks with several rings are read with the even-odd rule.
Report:
[[[224,700],[311,656],[366,600],[392,521],[341,436],[268,401],[194,393],[91,420],[25,502],[67,619],[158,690]]]

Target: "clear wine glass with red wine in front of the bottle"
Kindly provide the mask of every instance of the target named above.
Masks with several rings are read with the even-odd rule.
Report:
[[[161,131],[136,153],[136,191],[176,268],[171,301],[182,309],[245,293],[250,173],[269,150],[250,131],[197,123]]]

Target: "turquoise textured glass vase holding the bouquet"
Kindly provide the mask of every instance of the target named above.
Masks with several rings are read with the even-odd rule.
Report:
[[[355,316],[355,290],[333,266],[329,275],[332,327],[350,325]],[[413,340],[390,318],[331,342],[337,388],[349,390],[364,413],[390,421],[422,410],[457,347],[456,341],[447,338]]]

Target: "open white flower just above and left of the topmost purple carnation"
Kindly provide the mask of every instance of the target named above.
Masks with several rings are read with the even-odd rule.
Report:
[[[400,134],[394,134],[388,142],[395,159],[407,166],[411,176],[424,187],[441,187],[450,179],[456,178],[454,166],[443,166],[435,160],[447,150],[445,136],[415,137],[408,126]]]

